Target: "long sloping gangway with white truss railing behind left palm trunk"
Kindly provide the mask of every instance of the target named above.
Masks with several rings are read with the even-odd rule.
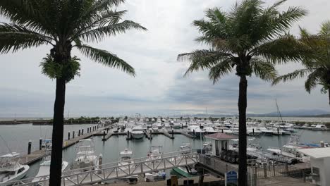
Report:
[[[61,185],[86,185],[107,180],[126,178],[131,175],[152,173],[180,166],[190,166],[198,163],[200,156],[197,153],[176,151],[162,154],[159,159],[149,157],[132,159],[129,162],[106,163],[88,168],[91,171],[83,172],[80,169],[65,171],[61,178]],[[134,163],[130,163],[134,162]],[[86,168],[85,168],[86,170]],[[32,182],[33,180],[33,182]],[[7,182],[5,185],[48,185],[49,175],[27,178],[16,182]]]

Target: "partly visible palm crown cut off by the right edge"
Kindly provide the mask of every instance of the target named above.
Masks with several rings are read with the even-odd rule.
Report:
[[[321,92],[329,94],[330,104],[330,21],[322,23],[321,30],[317,35],[312,35],[300,27],[300,39],[302,43],[310,47],[314,57],[303,58],[302,65],[305,68],[277,77],[273,85],[307,75],[306,91],[310,93],[317,85],[322,85]]]

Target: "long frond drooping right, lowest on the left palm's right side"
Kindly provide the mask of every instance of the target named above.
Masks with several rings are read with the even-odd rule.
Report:
[[[128,73],[129,75],[135,76],[135,70],[132,66],[130,66],[123,59],[118,58],[115,54],[111,54],[109,51],[105,51],[102,49],[95,49],[92,46],[88,46],[85,44],[76,45],[77,48],[94,61],[98,63],[102,63],[104,66],[109,66],[111,68],[119,68],[123,72]]]

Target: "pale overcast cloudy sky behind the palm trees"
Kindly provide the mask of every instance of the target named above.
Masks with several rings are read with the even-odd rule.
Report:
[[[66,112],[71,116],[118,116],[142,113],[237,113],[238,77],[228,75],[216,85],[207,79],[207,72],[183,77],[188,63],[176,56],[193,49],[204,49],[194,42],[199,35],[191,25],[203,17],[206,8],[230,10],[234,0],[127,0],[118,10],[127,9],[125,19],[147,27],[147,32],[126,34],[92,43],[117,54],[130,63],[137,76],[106,68],[82,57],[81,76],[67,85]],[[267,5],[274,0],[267,0]],[[298,25],[317,32],[319,24],[330,19],[329,0],[289,0],[281,8],[302,6],[309,16],[297,23],[291,32],[298,34]],[[1,20],[4,20],[3,18]],[[39,62],[50,46],[27,49],[0,56],[0,117],[52,116],[55,82],[41,74]],[[299,68],[298,64],[279,66],[279,73]],[[276,111],[277,98],[281,110],[329,110],[327,96],[317,87],[307,94],[304,80],[271,87],[255,77],[248,79],[248,113]]]

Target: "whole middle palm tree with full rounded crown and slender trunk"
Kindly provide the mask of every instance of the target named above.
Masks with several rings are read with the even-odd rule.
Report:
[[[239,113],[239,170],[238,185],[247,185],[246,109],[247,76],[254,74],[262,80],[274,80],[276,63],[298,61],[305,47],[288,32],[293,23],[307,14],[298,7],[279,12],[286,0],[264,8],[259,0],[236,3],[228,13],[220,8],[205,12],[206,20],[195,20],[193,25],[202,33],[197,42],[210,49],[195,50],[178,55],[178,60],[190,61],[185,75],[197,70],[209,70],[209,79],[216,83],[221,77],[236,70],[240,77]]]

